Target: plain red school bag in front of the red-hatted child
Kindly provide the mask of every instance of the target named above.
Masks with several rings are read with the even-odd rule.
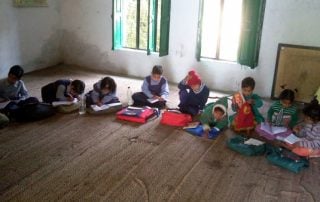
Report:
[[[162,113],[160,123],[169,126],[184,127],[192,122],[190,114],[184,114],[178,110],[167,110]]]

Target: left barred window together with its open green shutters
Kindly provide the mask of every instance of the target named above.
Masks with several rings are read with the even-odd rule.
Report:
[[[113,0],[113,50],[168,54],[170,0]]]

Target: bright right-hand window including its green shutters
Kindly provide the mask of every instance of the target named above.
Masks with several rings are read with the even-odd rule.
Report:
[[[258,64],[265,0],[201,0],[197,59]]]

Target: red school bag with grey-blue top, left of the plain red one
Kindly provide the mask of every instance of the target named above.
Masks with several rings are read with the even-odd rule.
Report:
[[[151,107],[126,107],[118,111],[116,118],[119,120],[146,123],[148,120],[159,117],[159,110]]]

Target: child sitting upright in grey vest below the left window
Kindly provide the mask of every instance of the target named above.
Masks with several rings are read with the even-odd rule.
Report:
[[[163,109],[169,96],[169,85],[166,78],[162,76],[161,65],[155,65],[151,75],[147,76],[142,84],[142,92],[134,93],[132,99],[134,106],[150,106]],[[155,103],[150,103],[148,99],[158,99]]]

